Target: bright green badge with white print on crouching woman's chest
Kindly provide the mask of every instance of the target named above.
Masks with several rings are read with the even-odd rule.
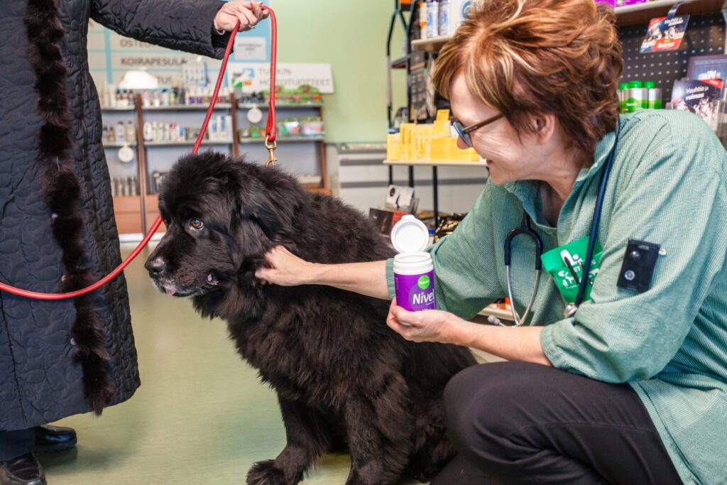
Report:
[[[565,246],[551,249],[540,257],[545,270],[553,276],[558,291],[569,304],[576,301],[578,286],[583,277],[583,265],[585,264],[586,252],[588,249],[588,236],[573,241]],[[598,276],[598,266],[601,263],[603,248],[598,241],[595,241],[593,248],[593,260],[588,272],[588,284],[586,285],[583,301],[590,300],[590,292],[593,288],[593,281]]]

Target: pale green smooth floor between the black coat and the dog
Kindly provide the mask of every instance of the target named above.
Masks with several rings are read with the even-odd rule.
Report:
[[[126,252],[129,251],[129,248]],[[222,321],[153,288],[148,252],[126,270],[142,387],[103,417],[60,422],[73,452],[41,457],[50,485],[241,484],[285,444],[275,394],[233,350]],[[348,455],[324,457],[306,484],[343,484]]]

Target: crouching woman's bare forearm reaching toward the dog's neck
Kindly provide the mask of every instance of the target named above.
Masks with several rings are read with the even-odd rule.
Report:
[[[340,265],[312,264],[305,284],[324,284],[369,297],[389,299],[386,261],[351,262]]]

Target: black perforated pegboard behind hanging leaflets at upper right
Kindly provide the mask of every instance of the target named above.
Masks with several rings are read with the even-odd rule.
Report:
[[[725,23],[721,13],[692,15],[678,51],[641,54],[639,49],[647,26],[632,25],[619,31],[624,57],[621,81],[654,81],[662,89],[663,103],[671,100],[674,81],[686,77],[689,57],[725,53]]]

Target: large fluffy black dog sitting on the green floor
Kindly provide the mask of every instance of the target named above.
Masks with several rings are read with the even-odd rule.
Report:
[[[403,340],[385,324],[385,301],[254,277],[278,244],[311,262],[391,257],[364,215],[279,169],[217,153],[180,159],[159,209],[167,231],[146,262],[156,286],[228,321],[241,356],[278,393],[287,446],[256,463],[249,484],[297,484],[340,444],[353,462],[347,484],[426,479],[446,464],[442,391],[475,363],[469,350]]]

